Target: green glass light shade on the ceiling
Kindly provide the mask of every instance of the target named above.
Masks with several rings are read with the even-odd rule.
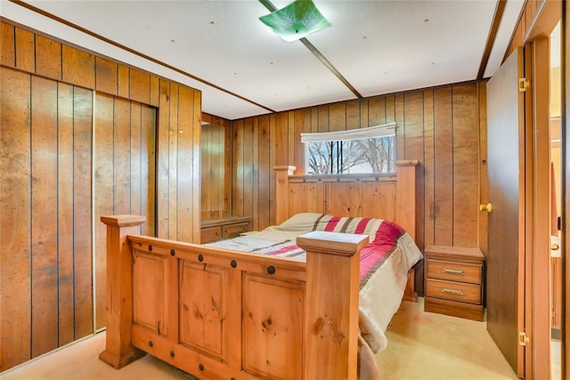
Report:
[[[322,16],[312,0],[296,0],[280,10],[260,17],[259,20],[287,42],[330,27],[329,20]]]

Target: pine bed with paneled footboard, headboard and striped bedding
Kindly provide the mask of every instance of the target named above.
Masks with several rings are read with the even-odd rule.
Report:
[[[148,352],[200,378],[366,377],[359,363],[386,346],[387,323],[413,290],[407,272],[421,259],[409,231],[416,164],[400,163],[391,177],[316,182],[277,168],[277,226],[213,245],[140,236],[137,215],[102,217],[100,358],[121,368]],[[379,206],[395,222],[366,215],[381,215]],[[330,210],[337,213],[315,212]],[[371,258],[365,271],[362,257]]]

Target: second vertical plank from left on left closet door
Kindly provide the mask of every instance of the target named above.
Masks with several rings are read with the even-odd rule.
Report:
[[[58,347],[57,82],[32,76],[32,357]],[[4,172],[3,172],[4,173]],[[3,207],[4,209],[4,207]]]

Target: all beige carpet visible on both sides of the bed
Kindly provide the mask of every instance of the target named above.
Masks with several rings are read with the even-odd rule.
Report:
[[[404,302],[387,331],[388,346],[379,352],[382,379],[517,379],[486,331],[485,322],[423,311]],[[71,344],[18,368],[2,380],[174,379],[190,376],[150,355],[116,370],[98,359],[105,333]],[[558,377],[559,378],[559,377]]]

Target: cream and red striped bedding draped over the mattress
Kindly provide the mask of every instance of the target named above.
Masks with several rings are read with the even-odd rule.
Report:
[[[278,226],[208,246],[305,261],[305,251],[297,247],[296,239],[313,230],[369,236],[360,255],[360,326],[371,350],[383,350],[387,346],[384,332],[402,302],[408,271],[423,257],[411,236],[394,222],[302,213]]]

